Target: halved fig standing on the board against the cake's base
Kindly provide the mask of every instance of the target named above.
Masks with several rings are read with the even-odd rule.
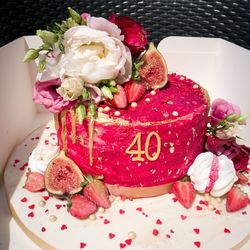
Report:
[[[84,177],[79,167],[61,151],[53,158],[45,171],[45,188],[56,196],[80,192]]]

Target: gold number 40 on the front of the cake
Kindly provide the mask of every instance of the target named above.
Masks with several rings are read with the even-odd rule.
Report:
[[[156,138],[156,151],[152,153],[152,155],[149,154],[149,146],[151,142],[151,138],[154,136]],[[161,153],[161,138],[156,132],[150,132],[147,136],[146,142],[145,142],[145,149],[142,150],[142,144],[141,144],[141,132],[137,133],[134,137],[134,140],[132,143],[128,146],[126,149],[126,154],[132,155],[132,161],[144,161],[144,157],[142,155],[145,154],[147,160],[149,161],[155,161],[158,159],[160,153]],[[137,147],[137,149],[132,149],[134,146]]]

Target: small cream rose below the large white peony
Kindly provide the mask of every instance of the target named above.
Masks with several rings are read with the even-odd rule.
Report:
[[[74,101],[81,96],[83,91],[83,81],[77,77],[68,77],[62,80],[62,84],[56,89],[56,92],[63,97],[65,101]]]

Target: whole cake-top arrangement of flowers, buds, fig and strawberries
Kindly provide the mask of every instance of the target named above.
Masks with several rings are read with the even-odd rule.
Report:
[[[29,49],[23,59],[39,61],[41,75],[33,91],[36,103],[52,113],[75,107],[82,122],[87,113],[95,116],[102,101],[125,108],[146,88],[160,88],[167,83],[166,64],[153,44],[141,56],[147,36],[139,23],[115,13],[107,20],[68,10],[68,19],[37,31],[43,44]],[[146,61],[152,53],[158,57],[157,64],[149,65]],[[154,76],[159,75],[157,82],[151,79],[152,67]]]

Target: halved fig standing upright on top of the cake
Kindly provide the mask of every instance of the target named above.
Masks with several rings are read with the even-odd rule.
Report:
[[[150,89],[164,87],[168,81],[168,68],[162,54],[153,43],[150,43],[141,60],[144,63],[139,69],[139,75],[146,82],[146,86]]]

